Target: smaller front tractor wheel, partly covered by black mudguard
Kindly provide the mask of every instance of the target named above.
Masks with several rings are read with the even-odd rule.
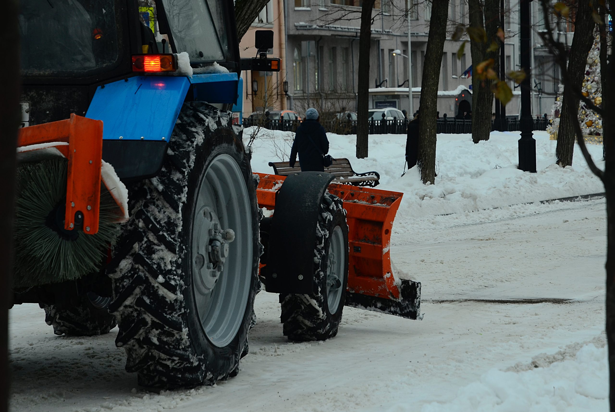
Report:
[[[280,293],[280,320],[290,340],[326,340],[338,333],[348,283],[348,226],[342,204],[330,193],[325,193],[320,204],[314,247],[317,292]]]

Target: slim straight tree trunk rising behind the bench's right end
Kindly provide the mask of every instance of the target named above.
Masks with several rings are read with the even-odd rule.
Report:
[[[370,100],[370,44],[371,10],[375,0],[363,0],[359,33],[359,88],[357,90],[357,158],[368,155],[369,125],[367,121]],[[435,117],[434,117],[435,119]]]

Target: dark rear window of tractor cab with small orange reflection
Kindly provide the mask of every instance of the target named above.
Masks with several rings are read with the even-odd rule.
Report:
[[[25,76],[84,76],[119,58],[116,0],[22,0]]]

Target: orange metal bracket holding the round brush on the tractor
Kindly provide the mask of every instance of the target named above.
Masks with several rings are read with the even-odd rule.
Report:
[[[71,114],[68,120],[20,129],[18,147],[67,142],[55,146],[68,159],[64,228],[82,227],[98,233],[100,213],[100,169],[103,157],[103,122]]]

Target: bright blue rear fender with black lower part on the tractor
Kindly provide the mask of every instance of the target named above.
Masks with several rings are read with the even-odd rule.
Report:
[[[85,114],[103,121],[103,160],[121,179],[156,176],[181,106],[190,100],[236,103],[236,73],[135,76],[101,85]]]

